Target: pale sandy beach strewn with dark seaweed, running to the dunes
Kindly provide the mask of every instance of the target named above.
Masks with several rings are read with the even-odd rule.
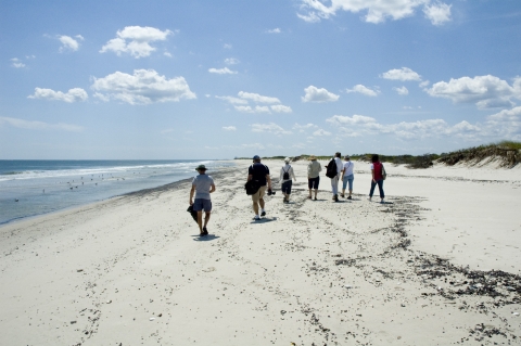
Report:
[[[380,204],[355,162],[334,203],[296,162],[254,221],[250,164],[209,172],[206,238],[191,180],[2,226],[0,344],[521,344],[521,167],[385,165]]]

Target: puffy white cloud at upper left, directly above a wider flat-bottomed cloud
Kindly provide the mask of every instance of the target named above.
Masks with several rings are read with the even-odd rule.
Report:
[[[136,59],[149,56],[156,48],[151,42],[164,41],[167,36],[174,34],[170,30],[160,30],[154,27],[126,26],[117,30],[116,38],[113,38],[100,50],[100,53],[113,51],[117,55],[128,53]]]

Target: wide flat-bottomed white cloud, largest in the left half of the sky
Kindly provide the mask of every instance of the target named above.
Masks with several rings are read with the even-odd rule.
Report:
[[[135,69],[134,75],[116,72],[103,78],[94,78],[91,88],[103,93],[105,99],[130,104],[196,99],[183,77],[166,79],[154,69]]]

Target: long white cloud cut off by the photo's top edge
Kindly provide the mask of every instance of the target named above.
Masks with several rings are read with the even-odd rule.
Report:
[[[428,7],[431,0],[301,0],[301,13],[297,16],[306,22],[316,23],[321,18],[327,20],[339,11],[359,13],[365,12],[364,20],[368,23],[382,23],[386,18],[403,20],[415,14],[417,8],[427,7],[425,15],[435,25],[444,22],[449,16],[450,7],[436,2]],[[329,5],[328,5],[329,4]],[[447,14],[448,10],[448,14]],[[441,22],[440,22],[441,21]]]

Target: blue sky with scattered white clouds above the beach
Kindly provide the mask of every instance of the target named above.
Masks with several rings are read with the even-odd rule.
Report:
[[[521,140],[521,1],[0,1],[0,158]]]

